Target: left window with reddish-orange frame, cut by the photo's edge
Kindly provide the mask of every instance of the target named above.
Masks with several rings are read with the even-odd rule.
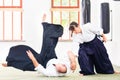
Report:
[[[0,41],[22,40],[22,0],[0,0]]]

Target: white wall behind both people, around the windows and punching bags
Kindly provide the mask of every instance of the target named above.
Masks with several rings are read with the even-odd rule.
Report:
[[[0,62],[5,61],[9,48],[13,45],[26,44],[35,49],[38,53],[42,45],[41,18],[47,13],[47,21],[50,22],[51,0],[23,0],[23,38],[25,42],[0,42]],[[112,10],[112,41],[105,43],[109,57],[113,64],[120,66],[120,1],[113,0],[91,0],[91,22],[101,26],[100,5],[102,2],[110,3]],[[110,13],[111,14],[111,13]],[[108,35],[108,37],[111,34]],[[56,52],[65,54],[71,48],[71,42],[59,42]],[[59,55],[62,56],[62,55]]]

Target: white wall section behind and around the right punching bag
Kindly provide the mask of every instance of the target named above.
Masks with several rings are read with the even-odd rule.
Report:
[[[114,0],[91,0],[91,22],[101,26],[101,3],[108,2],[110,5],[110,33],[106,34],[108,41],[105,46],[113,64],[120,66],[120,1]]]

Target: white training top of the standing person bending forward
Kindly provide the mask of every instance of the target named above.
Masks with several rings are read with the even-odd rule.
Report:
[[[82,33],[73,34],[72,51],[78,56],[79,44],[92,41],[96,34],[102,35],[103,29],[101,27],[94,26],[91,23],[84,24],[82,27]]]

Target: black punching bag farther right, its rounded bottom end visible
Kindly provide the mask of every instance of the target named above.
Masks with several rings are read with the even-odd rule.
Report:
[[[101,3],[102,28],[105,34],[110,32],[109,3]]]

